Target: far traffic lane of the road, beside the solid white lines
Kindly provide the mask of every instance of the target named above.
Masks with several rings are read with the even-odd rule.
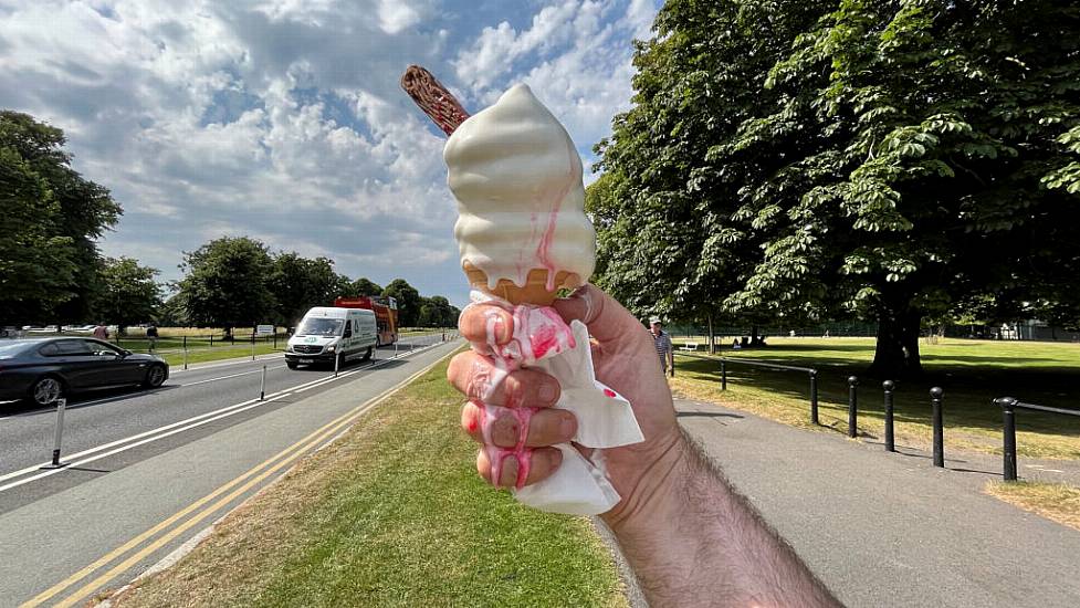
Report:
[[[412,336],[401,340],[397,347],[377,350],[370,364],[349,364],[345,370],[364,369],[380,365],[396,354],[441,340],[442,336]],[[188,370],[179,366],[172,368],[172,376],[159,389],[145,391],[123,389],[108,392],[87,392],[69,401],[64,415],[63,453],[65,460],[81,461],[91,467],[92,453],[115,450],[137,449],[130,454],[136,460],[148,453],[167,450],[177,442],[212,433],[227,426],[241,422],[266,411],[284,407],[284,403],[270,401],[251,402],[260,396],[262,369],[266,368],[265,394],[274,395],[307,382],[317,382],[333,377],[333,370],[325,368],[285,367],[279,355],[260,357],[256,360],[231,360],[192,366]],[[321,390],[317,385],[310,390]],[[325,388],[325,387],[324,387]],[[242,405],[241,405],[242,403]],[[239,406],[239,407],[238,407]],[[56,412],[54,408],[29,410],[22,403],[10,403],[0,410],[0,513],[9,511],[42,495],[42,492],[64,488],[64,483],[30,484],[30,481],[45,479],[41,467],[49,462],[55,442]],[[182,428],[182,430],[181,430]],[[161,438],[134,445],[151,436],[174,432],[170,441]],[[105,449],[99,449],[107,447]],[[80,454],[84,454],[80,457]],[[54,476],[54,475],[48,475]],[[25,488],[23,488],[25,486]]]

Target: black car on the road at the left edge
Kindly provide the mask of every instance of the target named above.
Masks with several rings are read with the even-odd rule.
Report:
[[[0,401],[39,406],[82,390],[138,385],[157,388],[169,364],[112,344],[76,337],[0,340]]]

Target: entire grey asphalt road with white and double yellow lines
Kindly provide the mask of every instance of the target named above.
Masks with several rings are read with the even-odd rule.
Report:
[[[35,596],[76,604],[130,580],[337,437],[360,406],[455,346],[440,342],[397,359],[387,358],[392,349],[380,352],[374,366],[349,366],[337,379],[284,369],[280,357],[219,365],[177,374],[172,388],[83,401],[65,424],[72,467],[35,467],[48,455],[40,444],[29,459],[3,448],[12,463],[0,475],[0,606]],[[258,400],[262,365],[265,401]],[[0,444],[10,437],[25,448],[44,434],[50,448],[51,419],[4,418]]]

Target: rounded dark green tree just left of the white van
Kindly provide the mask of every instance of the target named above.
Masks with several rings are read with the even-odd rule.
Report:
[[[273,319],[273,260],[266,245],[248,237],[223,237],[185,252],[177,286],[188,322],[199,327],[250,327]]]

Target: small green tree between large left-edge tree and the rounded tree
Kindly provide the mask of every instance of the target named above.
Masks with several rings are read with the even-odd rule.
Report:
[[[101,270],[101,291],[94,300],[96,317],[115,323],[120,334],[128,325],[154,318],[161,305],[159,271],[140,266],[130,258],[105,258]]]

